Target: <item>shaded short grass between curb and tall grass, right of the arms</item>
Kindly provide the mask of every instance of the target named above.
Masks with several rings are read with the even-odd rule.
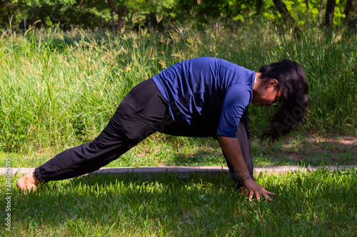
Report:
[[[287,137],[281,142],[252,144],[257,162],[275,165],[349,165],[357,164],[357,137]]]

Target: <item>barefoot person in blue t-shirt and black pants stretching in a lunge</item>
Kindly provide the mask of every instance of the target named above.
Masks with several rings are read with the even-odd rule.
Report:
[[[306,120],[308,83],[298,63],[283,60],[257,73],[218,58],[193,58],[172,65],[136,85],[121,101],[103,132],[93,142],[57,154],[21,177],[19,189],[36,189],[42,181],[69,179],[94,172],[154,132],[215,137],[222,147],[237,186],[249,200],[275,195],[253,178],[248,105],[281,103],[263,134],[271,140]]]

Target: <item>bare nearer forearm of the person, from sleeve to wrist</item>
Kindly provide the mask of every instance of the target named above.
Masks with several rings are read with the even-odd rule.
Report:
[[[218,140],[228,161],[231,163],[238,176],[241,177],[244,174],[247,174],[248,168],[246,167],[246,162],[244,162],[238,139],[234,137],[218,136]]]

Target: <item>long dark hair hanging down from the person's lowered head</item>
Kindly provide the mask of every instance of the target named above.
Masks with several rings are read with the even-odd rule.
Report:
[[[310,100],[308,99],[308,81],[303,68],[291,60],[271,63],[259,68],[261,80],[278,80],[279,107],[270,118],[270,125],[261,139],[269,142],[278,140],[293,130],[294,125],[306,123]]]

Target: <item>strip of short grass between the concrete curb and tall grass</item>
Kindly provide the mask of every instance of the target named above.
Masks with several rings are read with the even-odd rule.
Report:
[[[357,138],[303,135],[288,137],[269,146],[252,139],[252,159],[255,166],[278,165],[349,165],[357,164]],[[46,149],[32,154],[0,152],[0,167],[39,167],[61,152]],[[226,166],[221,147],[211,137],[171,137],[152,135],[138,146],[106,167],[158,167],[158,166]]]

